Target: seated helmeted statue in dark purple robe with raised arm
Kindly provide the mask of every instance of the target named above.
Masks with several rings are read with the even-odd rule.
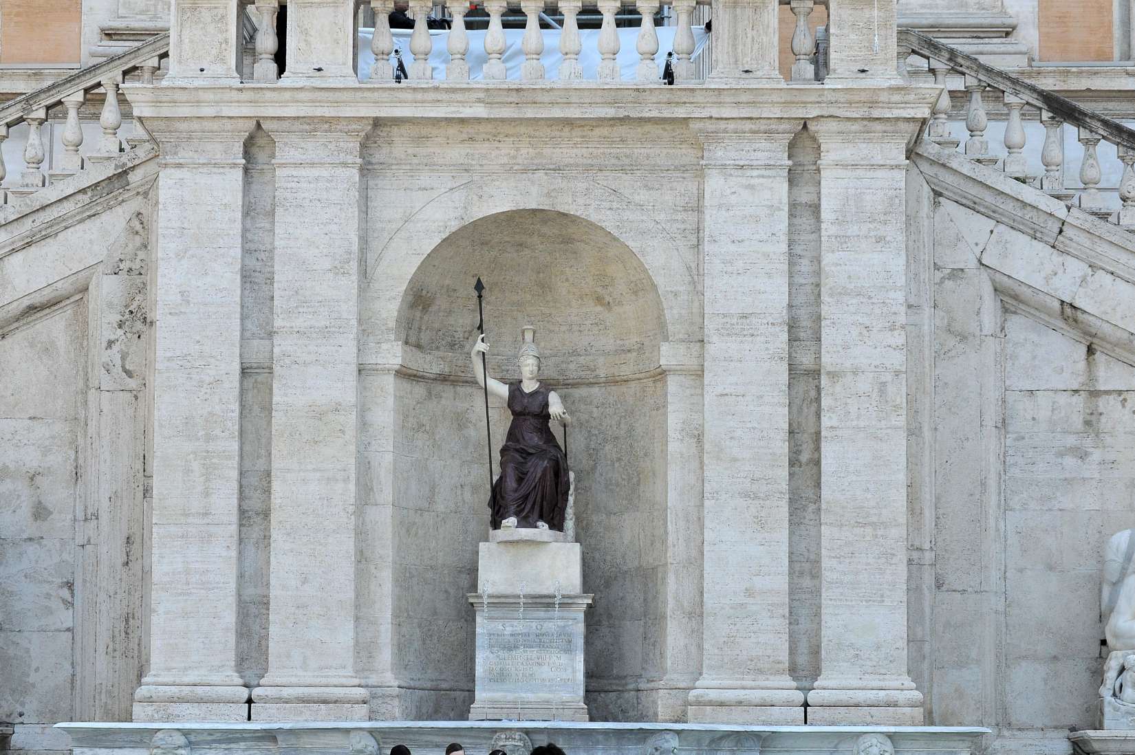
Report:
[[[535,328],[523,328],[516,354],[520,380],[504,384],[487,376],[480,354],[489,346],[481,335],[470,353],[481,387],[508,402],[512,423],[501,446],[501,476],[493,484],[489,512],[493,529],[564,529],[571,481],[568,458],[556,442],[549,419],[568,425],[568,412],[555,391],[539,381],[540,352]]]

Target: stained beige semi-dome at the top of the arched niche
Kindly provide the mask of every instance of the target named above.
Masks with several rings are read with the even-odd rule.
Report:
[[[515,371],[524,325],[536,328],[549,378],[612,378],[658,366],[662,302],[638,257],[577,216],[513,210],[454,232],[418,267],[397,324],[407,367],[469,375],[478,276],[486,286],[489,370],[497,376]]]

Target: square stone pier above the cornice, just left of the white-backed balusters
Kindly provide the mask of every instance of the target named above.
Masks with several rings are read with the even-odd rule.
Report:
[[[311,79],[358,84],[355,0],[291,0],[287,3],[287,70],[281,84]]]

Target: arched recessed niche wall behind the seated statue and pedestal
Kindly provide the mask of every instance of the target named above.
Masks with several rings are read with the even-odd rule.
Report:
[[[487,287],[489,374],[516,379],[520,328],[536,328],[541,379],[574,423],[577,535],[583,546],[588,688],[633,690],[656,678],[664,621],[665,392],[662,301],[619,238],[578,216],[512,210],[477,219],[417,267],[395,325],[402,367],[394,411],[394,665],[411,686],[471,689],[477,545],[488,532],[488,446],[469,351],[473,283]],[[490,402],[493,463],[510,416]],[[558,433],[557,433],[558,434]],[[427,695],[423,693],[423,695]],[[470,701],[434,695],[422,716],[462,718]],[[592,715],[619,718],[592,702]]]

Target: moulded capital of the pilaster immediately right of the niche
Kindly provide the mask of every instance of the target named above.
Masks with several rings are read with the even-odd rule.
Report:
[[[701,165],[708,168],[789,168],[788,143],[804,120],[799,118],[738,118],[691,124],[701,141]]]

